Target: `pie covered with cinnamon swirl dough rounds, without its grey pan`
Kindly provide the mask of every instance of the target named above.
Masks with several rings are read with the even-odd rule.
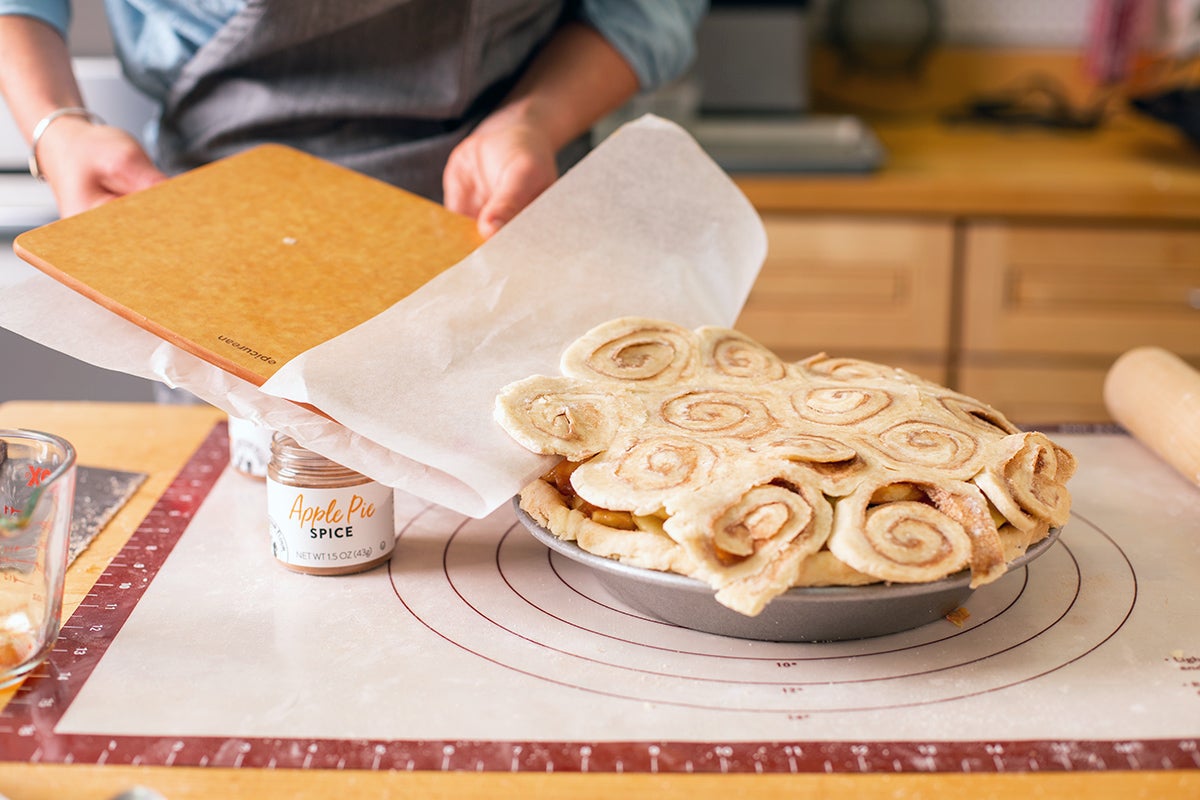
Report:
[[[562,372],[497,398],[518,443],[565,457],[521,507],[748,615],[793,587],[989,583],[1070,512],[1069,452],[894,367],[785,363],[738,331],[630,317]]]

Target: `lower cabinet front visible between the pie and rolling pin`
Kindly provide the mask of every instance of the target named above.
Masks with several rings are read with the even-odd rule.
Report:
[[[959,371],[958,389],[1018,425],[1109,422],[1103,367],[978,367]]]

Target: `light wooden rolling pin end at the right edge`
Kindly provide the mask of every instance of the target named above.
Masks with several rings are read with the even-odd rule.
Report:
[[[1200,372],[1162,348],[1129,350],[1104,378],[1117,422],[1200,486]]]

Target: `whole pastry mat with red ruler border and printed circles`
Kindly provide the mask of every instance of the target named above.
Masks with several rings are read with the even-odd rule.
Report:
[[[582,771],[1200,768],[1200,493],[1056,437],[1075,512],[958,627],[835,644],[647,619],[508,509],[401,501],[389,567],[277,566],[223,427],[0,715],[31,762]],[[1130,477],[1133,476],[1133,477]]]

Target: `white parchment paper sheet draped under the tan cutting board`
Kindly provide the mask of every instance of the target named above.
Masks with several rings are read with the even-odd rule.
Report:
[[[761,219],[728,176],[685,131],[647,116],[463,261],[260,389],[34,267],[0,285],[20,299],[0,303],[0,325],[186,389],[378,481],[482,517],[546,467],[493,422],[500,387],[558,374],[563,349],[616,317],[732,325],[766,248]]]

